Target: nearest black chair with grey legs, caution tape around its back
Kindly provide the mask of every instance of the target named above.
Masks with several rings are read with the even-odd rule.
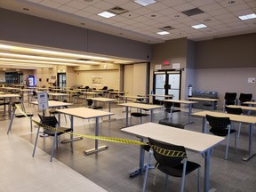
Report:
[[[184,191],[185,176],[197,169],[197,191],[200,191],[200,164],[188,161],[186,149],[183,146],[171,145],[148,138],[149,154],[148,164],[143,183],[143,192],[146,191],[148,180],[148,168],[152,154],[156,159],[156,169],[165,173],[165,184],[167,188],[168,176],[182,178],[180,191]],[[168,155],[167,155],[168,154]]]

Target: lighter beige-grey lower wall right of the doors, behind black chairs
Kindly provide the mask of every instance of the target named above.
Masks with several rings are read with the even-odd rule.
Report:
[[[219,93],[219,108],[222,108],[225,92],[252,93],[256,100],[256,83],[249,84],[248,78],[256,78],[256,68],[204,68],[195,69],[195,91]]]

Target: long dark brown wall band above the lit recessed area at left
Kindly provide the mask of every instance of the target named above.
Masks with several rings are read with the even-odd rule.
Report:
[[[150,60],[151,45],[0,8],[0,40]]]

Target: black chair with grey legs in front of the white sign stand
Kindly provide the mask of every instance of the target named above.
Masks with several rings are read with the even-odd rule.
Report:
[[[36,141],[35,141],[35,146],[34,146],[32,156],[35,156],[35,153],[36,153],[36,145],[37,145],[37,140],[38,140],[38,136],[39,136],[39,132],[40,132],[40,127],[44,128],[44,134],[54,137],[53,142],[52,142],[52,153],[51,153],[50,162],[52,162],[52,157],[54,155],[54,145],[56,145],[56,148],[58,148],[58,137],[61,134],[64,134],[66,132],[70,132],[70,140],[71,140],[70,145],[71,145],[71,151],[73,153],[73,129],[72,128],[59,127],[59,122],[57,121],[55,116],[41,116],[39,114],[38,114],[38,116],[41,120],[41,124],[38,127],[38,130],[37,130],[37,133],[36,133]],[[45,127],[45,125],[47,125],[48,128]],[[53,130],[51,127],[52,128],[57,128],[58,131]]]

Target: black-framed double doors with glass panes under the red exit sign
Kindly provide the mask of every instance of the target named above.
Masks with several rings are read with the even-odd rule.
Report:
[[[154,72],[153,92],[158,95],[173,95],[175,100],[180,100],[181,71],[163,70]],[[153,103],[159,104],[164,97],[153,97]]]

